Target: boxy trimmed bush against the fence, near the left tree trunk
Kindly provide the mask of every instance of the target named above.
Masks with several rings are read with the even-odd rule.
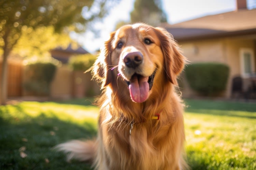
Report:
[[[45,96],[50,94],[50,84],[53,81],[57,64],[55,61],[27,62],[25,66],[25,91],[32,95]]]

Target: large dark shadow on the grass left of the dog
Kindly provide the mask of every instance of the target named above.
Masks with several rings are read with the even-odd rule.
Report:
[[[67,163],[63,153],[53,150],[61,142],[93,138],[97,129],[90,122],[79,125],[44,112],[31,117],[19,105],[1,106],[0,129],[0,169],[90,169],[86,163]],[[27,156],[22,158],[21,152]]]

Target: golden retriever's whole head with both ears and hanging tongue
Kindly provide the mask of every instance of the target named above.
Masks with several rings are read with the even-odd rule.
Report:
[[[150,96],[155,81],[176,85],[184,62],[170,33],[138,23],[111,33],[93,66],[93,74],[102,88],[120,81],[120,85],[129,87],[131,100],[141,103]]]

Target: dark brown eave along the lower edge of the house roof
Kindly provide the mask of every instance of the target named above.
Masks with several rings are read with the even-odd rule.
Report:
[[[174,39],[179,42],[191,41],[191,40],[204,40],[204,39],[215,39],[215,38],[225,38],[225,37],[236,37],[243,35],[256,35],[256,28],[246,29],[246,30],[238,30],[238,31],[227,31],[220,33],[212,33],[207,35],[197,35],[197,36],[186,36],[186,37],[178,37],[174,35]]]

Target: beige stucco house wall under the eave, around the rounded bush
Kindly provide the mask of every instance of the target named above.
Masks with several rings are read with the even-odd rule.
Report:
[[[227,90],[222,97],[230,98],[231,80],[234,76],[240,75],[240,49],[254,49],[254,39],[250,37],[219,38],[213,40],[195,40],[189,43],[179,43],[184,56],[190,63],[217,62],[227,64],[230,68]],[[254,49],[255,50],[255,49]],[[184,74],[181,75],[185,77]],[[186,80],[183,80],[183,97],[194,97],[197,94],[191,90]]]

